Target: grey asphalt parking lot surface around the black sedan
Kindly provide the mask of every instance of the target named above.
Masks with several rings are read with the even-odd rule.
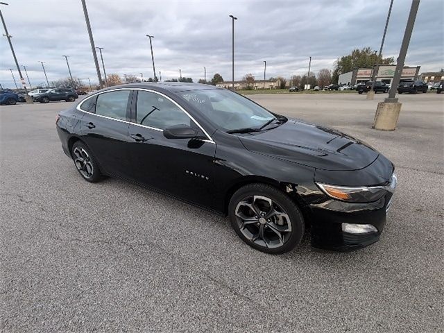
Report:
[[[280,256],[198,207],[82,180],[55,130],[71,103],[1,106],[0,331],[443,332],[444,95],[401,95],[398,130],[372,130],[385,96],[248,96],[397,168],[377,244],[320,252],[305,237]]]

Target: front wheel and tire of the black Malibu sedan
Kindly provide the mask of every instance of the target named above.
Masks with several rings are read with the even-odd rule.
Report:
[[[238,189],[230,199],[228,216],[232,228],[246,244],[274,255],[293,250],[305,231],[298,206],[284,192],[265,184],[249,184]],[[261,229],[262,237],[259,237]]]

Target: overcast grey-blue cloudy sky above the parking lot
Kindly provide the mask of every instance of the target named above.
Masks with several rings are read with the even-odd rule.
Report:
[[[73,76],[97,82],[80,0],[2,0],[8,31],[19,65],[32,85],[42,85],[45,62],[49,80]],[[235,78],[247,73],[263,78],[332,69],[352,49],[379,49],[390,0],[290,1],[133,1],[87,0],[94,42],[102,46],[107,74],[153,76],[146,34],[154,35],[155,67],[162,80],[191,76],[195,82],[219,73],[231,79],[231,18],[235,23]],[[384,56],[398,56],[411,0],[395,0]],[[406,65],[421,71],[444,67],[444,1],[421,0]],[[2,31],[4,33],[4,31]],[[14,87],[9,68],[17,69],[6,37],[1,37],[0,83]]]

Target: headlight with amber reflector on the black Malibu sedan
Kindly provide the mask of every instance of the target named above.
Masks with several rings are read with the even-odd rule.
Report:
[[[386,186],[343,187],[319,182],[316,182],[316,185],[330,198],[350,203],[370,203],[382,198],[387,191],[395,191],[396,181],[395,173],[393,173],[390,184]]]

